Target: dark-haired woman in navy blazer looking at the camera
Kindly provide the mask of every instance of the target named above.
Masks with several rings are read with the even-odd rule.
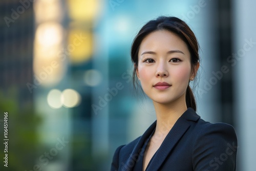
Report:
[[[179,18],[161,16],[141,28],[131,49],[133,80],[153,100],[157,120],[116,149],[111,170],[236,170],[233,127],[195,112],[189,82],[197,75],[198,51],[197,38]]]

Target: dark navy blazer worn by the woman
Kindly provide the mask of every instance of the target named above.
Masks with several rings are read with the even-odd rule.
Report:
[[[133,170],[135,163],[143,160],[140,149],[155,127],[156,121],[142,136],[119,146],[111,171]],[[206,122],[188,108],[165,137],[147,170],[233,171],[237,148],[237,135],[231,125]]]

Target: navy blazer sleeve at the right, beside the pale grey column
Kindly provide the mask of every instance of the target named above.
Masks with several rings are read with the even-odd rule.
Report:
[[[194,170],[235,171],[237,149],[237,135],[231,125],[208,123],[193,145]]]

